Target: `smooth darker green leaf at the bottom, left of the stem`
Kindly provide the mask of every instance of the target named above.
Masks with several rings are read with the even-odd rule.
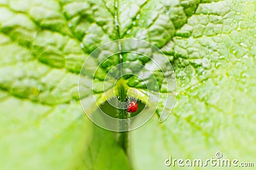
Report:
[[[115,140],[116,132],[109,132],[93,125],[93,137],[82,166],[77,169],[131,169],[124,150]]]

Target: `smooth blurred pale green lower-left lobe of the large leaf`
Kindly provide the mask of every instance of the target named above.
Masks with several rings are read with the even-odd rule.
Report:
[[[1,91],[1,169],[73,169],[92,124],[77,102],[44,105]]]

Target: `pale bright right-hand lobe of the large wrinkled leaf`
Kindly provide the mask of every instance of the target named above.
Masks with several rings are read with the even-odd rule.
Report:
[[[255,5],[202,1],[162,47],[173,58],[177,100],[164,123],[132,131],[134,169],[170,169],[170,156],[205,160],[217,151],[255,163]]]

